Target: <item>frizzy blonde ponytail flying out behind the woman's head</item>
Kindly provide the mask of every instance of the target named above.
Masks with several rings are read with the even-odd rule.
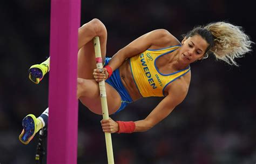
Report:
[[[214,45],[209,51],[215,55],[217,60],[220,59],[230,65],[238,66],[235,58],[244,57],[245,53],[252,50],[253,42],[240,26],[227,22],[216,22],[206,25],[204,29],[212,33]]]

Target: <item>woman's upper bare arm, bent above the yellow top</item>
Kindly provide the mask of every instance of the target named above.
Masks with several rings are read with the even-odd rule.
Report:
[[[137,54],[149,49],[151,46],[167,47],[178,40],[171,33],[164,29],[158,29],[146,33],[143,36],[133,40],[130,44],[119,50],[109,62],[112,70],[116,70],[124,60],[136,56]]]

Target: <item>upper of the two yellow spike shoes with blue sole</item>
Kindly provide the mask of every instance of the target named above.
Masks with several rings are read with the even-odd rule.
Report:
[[[33,83],[39,84],[47,72],[49,72],[49,66],[46,64],[32,65],[29,69],[29,79]]]

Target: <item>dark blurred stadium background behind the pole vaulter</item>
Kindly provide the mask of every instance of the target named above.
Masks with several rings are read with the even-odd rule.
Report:
[[[92,18],[106,25],[108,57],[151,30],[164,28],[181,40],[194,26],[219,20],[256,38],[253,1],[82,1],[81,14],[81,25]],[[28,69],[49,56],[50,1],[1,1],[0,20],[0,163],[35,163],[38,136],[22,145],[18,135],[26,114],[48,106],[49,75],[35,85]],[[253,50],[237,60],[240,67],[213,57],[192,64],[190,91],[169,117],[144,133],[112,135],[116,163],[255,163]],[[144,119],[160,100],[139,100],[111,118]],[[79,104],[78,163],[106,163],[101,118]]]

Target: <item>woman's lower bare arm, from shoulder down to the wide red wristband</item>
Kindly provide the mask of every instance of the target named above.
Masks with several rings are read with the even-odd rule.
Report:
[[[173,83],[169,88],[169,94],[160,101],[157,107],[144,120],[135,121],[134,132],[147,131],[166,118],[185,99],[187,91],[188,86]]]

